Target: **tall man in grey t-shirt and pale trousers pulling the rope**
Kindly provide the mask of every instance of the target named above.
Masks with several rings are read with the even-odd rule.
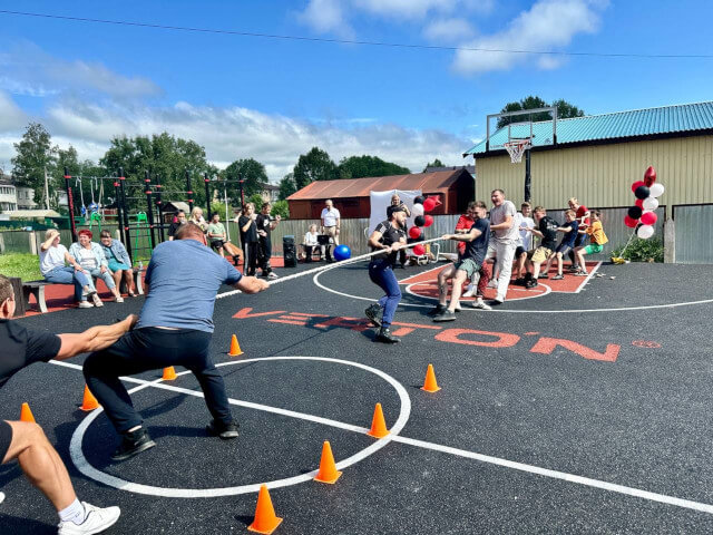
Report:
[[[512,273],[512,259],[515,250],[520,241],[520,234],[515,224],[515,205],[510,201],[506,201],[502,189],[494,189],[490,194],[492,208],[490,210],[490,230],[492,237],[488,244],[488,259],[495,257],[497,265],[494,273],[498,275],[498,292],[491,304],[502,304],[508,293],[508,284],[510,283],[510,273]]]

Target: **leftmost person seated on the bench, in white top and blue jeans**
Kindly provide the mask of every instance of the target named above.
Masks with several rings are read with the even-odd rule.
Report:
[[[87,299],[91,299],[95,303],[101,302],[94,288],[91,275],[59,241],[59,232],[55,228],[45,233],[45,242],[40,245],[40,272],[45,280],[52,284],[74,284],[75,295],[79,295],[79,308],[90,309],[91,303]],[[65,262],[69,265],[65,265]]]

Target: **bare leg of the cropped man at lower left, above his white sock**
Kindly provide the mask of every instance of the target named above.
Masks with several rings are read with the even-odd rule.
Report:
[[[12,427],[12,441],[2,463],[18,459],[30,483],[47,496],[59,512],[68,507],[77,495],[67,468],[57,450],[49,444],[37,424],[8,421]]]

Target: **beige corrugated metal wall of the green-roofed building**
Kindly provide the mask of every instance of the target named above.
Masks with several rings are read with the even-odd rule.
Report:
[[[713,136],[681,137],[616,145],[533,152],[533,203],[564,208],[569,197],[587,206],[631,206],[629,186],[653,165],[666,187],[662,204],[713,203]],[[519,206],[524,200],[525,162],[509,156],[476,158],[476,197],[505,189]]]

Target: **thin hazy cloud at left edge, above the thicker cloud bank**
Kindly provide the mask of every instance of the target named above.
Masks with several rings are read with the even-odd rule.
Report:
[[[28,41],[1,54],[0,68],[0,88],[17,95],[47,97],[71,91],[137,98],[163,93],[146,78],[121,76],[99,62],[57,58]]]

